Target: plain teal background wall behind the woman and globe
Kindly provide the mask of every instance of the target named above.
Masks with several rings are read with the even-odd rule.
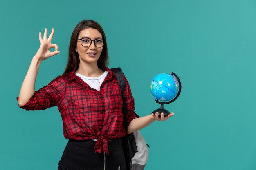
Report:
[[[180,97],[164,106],[175,115],[141,130],[145,170],[256,169],[255,0],[13,0],[1,2],[0,15],[0,169],[57,169],[67,143],[57,107],[26,111],[16,97],[39,31],[54,28],[61,53],[42,62],[36,90],[64,72],[83,19],[103,27],[109,67],[122,68],[140,116],[160,106],[150,93],[155,75],[181,79]]]

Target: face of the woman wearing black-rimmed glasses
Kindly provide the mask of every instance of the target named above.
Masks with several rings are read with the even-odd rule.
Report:
[[[90,38],[91,40],[96,40],[102,39],[102,35],[97,29],[86,28],[80,31],[78,39],[80,38]],[[87,42],[87,40],[84,40],[84,42]],[[95,44],[97,44],[97,42],[95,42]],[[77,41],[75,51],[79,54],[80,62],[85,62],[88,64],[97,63],[103,47],[97,47],[95,44],[94,41],[92,41],[90,46],[84,47],[82,46],[80,40]]]

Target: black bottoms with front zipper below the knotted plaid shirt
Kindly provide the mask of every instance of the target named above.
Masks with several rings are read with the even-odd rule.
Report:
[[[122,140],[108,141],[109,155],[94,151],[96,141],[69,140],[58,170],[126,170]]]

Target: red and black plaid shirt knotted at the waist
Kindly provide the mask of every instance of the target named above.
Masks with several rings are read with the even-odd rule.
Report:
[[[100,91],[91,88],[75,70],[53,79],[48,85],[35,91],[29,101],[20,108],[26,110],[45,110],[58,106],[63,120],[63,133],[66,139],[98,139],[94,147],[96,152],[108,152],[108,140],[126,135],[122,125],[122,95],[115,73],[108,71]],[[134,99],[130,85],[126,81],[127,127],[135,118]],[[18,101],[18,97],[17,97]]]

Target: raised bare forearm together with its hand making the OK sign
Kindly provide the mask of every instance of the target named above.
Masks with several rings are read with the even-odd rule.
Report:
[[[24,106],[35,93],[36,76],[41,62],[60,52],[58,51],[58,46],[56,44],[51,44],[53,34],[54,29],[52,29],[52,33],[47,39],[47,29],[45,29],[45,33],[42,39],[42,34],[39,33],[39,41],[41,45],[31,61],[25,79],[20,88],[20,94],[18,98],[18,105],[20,107]],[[49,49],[52,47],[55,47],[54,52],[49,51]]]

